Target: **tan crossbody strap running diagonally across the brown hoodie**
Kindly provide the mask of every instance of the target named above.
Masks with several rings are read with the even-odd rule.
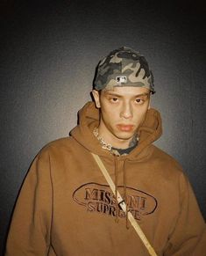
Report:
[[[103,172],[103,176],[107,180],[108,184],[110,185],[110,189],[111,189],[112,193],[116,194],[115,193],[115,190],[116,190],[115,184],[114,184],[113,180],[110,178],[110,174],[109,174],[109,172],[107,172],[107,169],[103,165],[102,160],[96,154],[94,154],[94,153],[91,153],[91,154],[94,157],[94,159],[96,160],[96,164],[99,166],[100,170]],[[126,203],[118,191],[117,191],[117,202],[123,209],[124,213],[126,214]],[[156,254],[156,252],[154,252],[153,246],[150,245],[149,241],[146,238],[146,235],[144,234],[143,230],[141,230],[141,228],[139,227],[139,224],[136,222],[135,218],[131,215],[130,211],[128,211],[128,220],[130,221],[131,226],[134,228],[134,230],[138,233],[139,238],[142,240],[143,244],[146,246],[146,249],[150,253],[150,255],[158,256]]]

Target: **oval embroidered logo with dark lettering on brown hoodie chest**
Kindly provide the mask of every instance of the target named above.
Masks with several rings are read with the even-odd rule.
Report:
[[[120,194],[124,194],[124,187],[117,187]],[[124,217],[124,211],[117,207],[115,196],[109,185],[98,183],[86,183],[78,187],[73,199],[89,212],[101,213],[108,216]],[[140,191],[133,187],[126,187],[126,198],[124,201],[136,220],[141,220],[142,216],[153,214],[157,208],[157,200],[151,194]]]

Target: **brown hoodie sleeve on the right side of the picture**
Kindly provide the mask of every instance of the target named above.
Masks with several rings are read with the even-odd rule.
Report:
[[[203,256],[206,252],[206,225],[188,179],[180,178],[180,213],[168,239],[164,256]]]

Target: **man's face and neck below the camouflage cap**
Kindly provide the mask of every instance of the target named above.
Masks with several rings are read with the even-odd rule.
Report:
[[[139,126],[145,121],[150,91],[142,87],[113,87],[92,91],[100,108],[99,136],[115,148],[128,148]]]

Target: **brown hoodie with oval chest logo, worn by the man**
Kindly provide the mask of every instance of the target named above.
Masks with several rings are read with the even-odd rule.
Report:
[[[103,150],[89,102],[71,136],[49,143],[32,163],[11,221],[6,256],[148,255],[90,152],[101,157],[131,214],[158,255],[202,256],[205,223],[181,166],[152,143],[160,113],[148,110],[137,148]]]

